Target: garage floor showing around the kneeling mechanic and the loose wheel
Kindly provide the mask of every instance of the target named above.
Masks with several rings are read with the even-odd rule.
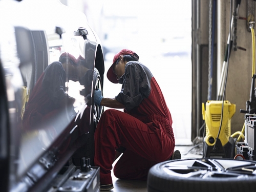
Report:
[[[180,151],[181,159],[202,158],[202,155],[200,155],[201,148],[202,147],[194,148],[193,145],[176,146],[175,150]],[[189,150],[191,151],[187,154]],[[113,179],[114,188],[111,191],[114,191],[114,192],[131,192],[131,191],[146,192],[147,191],[146,181],[120,180],[114,176],[113,172],[112,172],[112,179]]]

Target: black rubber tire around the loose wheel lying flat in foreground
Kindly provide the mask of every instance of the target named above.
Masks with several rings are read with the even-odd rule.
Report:
[[[180,178],[167,175],[162,169],[165,161],[154,165],[147,177],[148,192],[216,192],[256,191],[256,176],[248,178]]]

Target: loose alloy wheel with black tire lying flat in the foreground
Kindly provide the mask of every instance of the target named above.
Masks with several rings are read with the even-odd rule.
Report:
[[[148,192],[256,191],[256,162],[186,159],[158,163],[147,177]]]

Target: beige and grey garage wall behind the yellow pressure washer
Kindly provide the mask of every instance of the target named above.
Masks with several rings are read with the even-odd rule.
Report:
[[[203,125],[202,120],[202,102],[207,101],[208,88],[208,42],[209,42],[209,1],[192,0],[192,134],[191,140],[202,131],[198,132]],[[247,17],[247,5],[255,7],[252,0],[242,0],[239,16]],[[255,9],[252,9],[255,15]],[[225,56],[225,49],[228,40],[230,23],[230,0],[217,1],[217,26],[216,41],[214,48],[214,74],[212,84],[212,100],[217,99],[218,83],[221,76],[222,65]],[[225,100],[236,104],[236,113],[231,119],[231,134],[241,131],[244,124],[244,114],[240,109],[246,109],[246,101],[250,99],[251,73],[252,73],[252,42],[251,33],[247,31],[246,20],[237,21],[237,45],[246,49],[234,51],[232,48],[228,79],[226,86]],[[202,129],[203,130],[203,129]]]

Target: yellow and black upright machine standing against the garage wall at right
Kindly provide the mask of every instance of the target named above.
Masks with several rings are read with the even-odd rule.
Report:
[[[206,134],[203,143],[203,157],[232,158],[234,155],[235,142],[231,134],[230,120],[236,112],[236,104],[229,101],[207,101],[206,108],[202,103],[202,115],[205,120]],[[220,130],[220,124],[221,130]],[[220,133],[219,133],[220,130]],[[219,134],[219,136],[218,136]],[[217,139],[218,137],[218,139]]]

